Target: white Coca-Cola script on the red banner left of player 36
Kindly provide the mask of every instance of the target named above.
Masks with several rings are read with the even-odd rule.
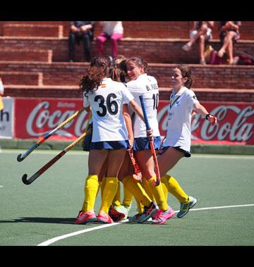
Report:
[[[71,104],[69,106],[73,107]],[[76,110],[73,109],[65,111],[56,109],[51,114],[49,111],[49,107],[49,101],[43,101],[40,104],[37,104],[37,106],[32,109],[26,122],[26,129],[31,137],[40,137],[42,135],[46,135],[49,130],[53,130],[76,112]],[[73,123],[75,123],[75,136],[82,135],[85,131],[85,126],[87,124],[87,120],[85,120],[86,116],[87,111],[83,111],[82,113],[80,113],[78,118],[71,120],[71,122],[67,123],[65,126],[63,126],[63,128],[58,130],[56,132],[56,135],[59,135],[61,137],[73,137],[71,132],[68,132],[68,129],[73,126]],[[47,130],[42,131],[42,129]]]

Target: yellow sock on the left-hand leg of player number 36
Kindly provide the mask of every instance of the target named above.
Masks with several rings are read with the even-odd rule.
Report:
[[[83,203],[82,211],[90,211],[94,209],[97,190],[99,187],[98,176],[88,175],[85,179],[85,200]]]

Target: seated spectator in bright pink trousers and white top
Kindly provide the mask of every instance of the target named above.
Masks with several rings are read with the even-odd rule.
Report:
[[[102,25],[102,32],[97,37],[97,50],[98,54],[102,55],[104,51],[104,42],[107,39],[111,43],[111,51],[113,58],[118,54],[117,42],[123,38],[123,24],[121,21],[100,21]]]

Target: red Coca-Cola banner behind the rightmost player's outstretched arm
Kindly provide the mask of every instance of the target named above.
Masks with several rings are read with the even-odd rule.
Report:
[[[161,135],[167,131],[167,106],[169,101],[160,101],[157,119]],[[254,104],[237,102],[200,103],[207,111],[217,116],[217,124],[195,113],[191,122],[192,144],[254,144]]]

